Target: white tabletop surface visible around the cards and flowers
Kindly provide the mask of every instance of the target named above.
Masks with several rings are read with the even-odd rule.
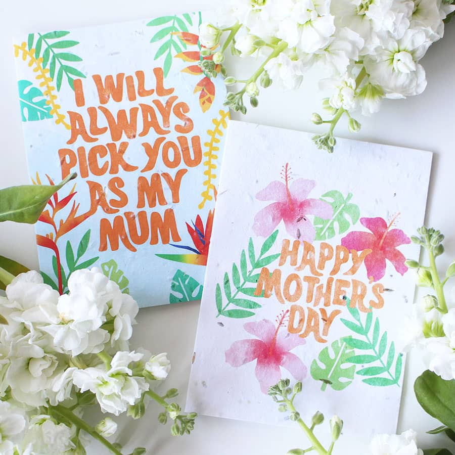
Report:
[[[14,68],[12,37],[29,31],[67,29],[97,25],[128,19],[159,16],[168,12],[209,9],[209,1],[143,2],[141,0],[79,0],[57,2],[48,0],[0,0],[0,55],[2,71],[0,86],[0,187],[28,183],[25,150],[22,140],[20,110]],[[442,41],[430,48],[422,63],[427,70],[428,87],[424,94],[403,101],[389,101],[379,114],[360,118],[362,130],[355,139],[384,144],[414,147],[434,152],[426,223],[435,225],[446,235],[446,252],[441,267],[455,257],[455,202],[453,199],[455,150],[452,138],[455,128],[455,23],[446,28]],[[151,56],[152,58],[152,56]],[[254,62],[237,64],[235,72],[248,77]],[[229,62],[228,62],[229,65]],[[233,66],[230,65],[230,68]],[[321,93],[316,90],[316,77],[309,75],[298,92],[283,93],[272,86],[259,98],[260,107],[250,110],[245,120],[273,126],[318,131],[309,122],[314,111],[320,110]],[[236,116],[236,118],[239,118]],[[337,134],[347,136],[343,125]],[[325,152],[321,152],[325,153]],[[361,172],[361,169],[359,169]],[[37,267],[33,226],[2,223],[0,225],[0,253],[29,267]],[[153,277],[151,277],[153,279]],[[453,300],[453,299],[452,299]],[[454,302],[455,303],[455,302]],[[404,304],[397,301],[396,304]],[[184,404],[193,354],[193,343],[199,311],[198,303],[142,309],[140,323],[135,328],[133,345],[143,345],[154,352],[167,351],[173,368],[163,388],[177,387]],[[413,428],[419,432],[423,448],[446,445],[443,436],[426,435],[425,431],[437,422],[425,414],[417,403],[412,385],[423,370],[417,353],[408,356],[405,371],[398,431]],[[155,455],[280,455],[293,447],[306,447],[306,440],[298,428],[270,427],[201,416],[191,436],[172,438],[169,426],[157,423],[158,407],[150,406],[139,422],[120,419],[119,442],[126,444],[125,453],[135,446],[144,446]],[[96,420],[98,416],[88,416]],[[327,430],[323,425],[321,432]],[[348,444],[343,444],[348,447]],[[450,446],[453,450],[453,445]],[[365,450],[367,453],[368,450]],[[89,450],[104,453],[97,446]],[[338,455],[352,454],[343,448]]]

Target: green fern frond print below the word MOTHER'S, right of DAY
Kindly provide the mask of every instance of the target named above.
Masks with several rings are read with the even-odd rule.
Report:
[[[347,361],[363,367],[355,373],[359,376],[364,376],[365,379],[362,379],[362,381],[366,384],[377,387],[386,387],[390,385],[397,385],[399,387],[403,354],[398,353],[398,355],[395,355],[395,343],[393,341],[390,343],[387,350],[387,332],[384,332],[381,336],[379,317],[376,317],[374,320],[373,311],[367,313],[365,324],[362,324],[359,310],[350,307],[349,299],[346,298],[345,300],[349,313],[358,324],[346,319],[341,319],[340,321],[349,330],[356,335],[360,335],[363,339],[345,337],[344,340],[346,344],[353,349],[370,351],[368,353],[352,355]],[[374,324],[373,320],[375,321]],[[371,365],[372,363],[375,365]],[[392,372],[394,364],[395,368]],[[365,365],[368,365],[368,367],[365,367]]]

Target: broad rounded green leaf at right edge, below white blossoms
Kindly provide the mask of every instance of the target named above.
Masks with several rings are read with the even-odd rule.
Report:
[[[414,383],[417,401],[439,422],[455,431],[455,380],[446,381],[432,371],[423,372]]]

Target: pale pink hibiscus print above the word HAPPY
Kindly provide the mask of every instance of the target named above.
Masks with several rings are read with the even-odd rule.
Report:
[[[316,186],[314,180],[298,178],[289,185],[291,177],[289,164],[283,168],[285,183],[272,181],[256,195],[259,201],[276,201],[267,205],[254,217],[253,231],[257,236],[268,237],[284,221],[288,234],[301,241],[312,243],[315,237],[313,224],[308,215],[329,219],[333,215],[332,206],[319,199],[307,199]]]

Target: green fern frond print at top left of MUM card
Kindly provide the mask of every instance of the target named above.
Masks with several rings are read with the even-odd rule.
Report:
[[[28,35],[28,49],[35,49],[35,57],[42,57],[42,67],[49,67],[49,77],[56,82],[60,92],[64,76],[68,85],[74,90],[74,78],[85,78],[85,74],[67,62],[81,62],[82,59],[68,49],[74,48],[79,41],[73,39],[60,39],[69,34],[69,31],[52,31],[49,33],[33,33]],[[57,75],[56,75],[56,69]]]

